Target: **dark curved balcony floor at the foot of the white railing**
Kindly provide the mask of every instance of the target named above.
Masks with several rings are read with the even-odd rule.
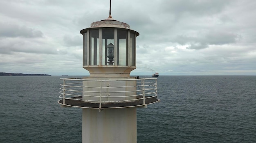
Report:
[[[143,98],[143,97],[138,96],[137,98]],[[90,102],[81,101],[82,96],[75,97],[73,99],[79,99],[79,100],[65,99],[65,104],[63,104],[63,100],[59,100],[59,103],[66,105],[66,106],[76,106],[76,107],[80,107],[80,108],[99,108],[99,103],[90,103]],[[159,102],[159,100],[155,97],[145,99],[146,105],[152,104],[155,102]],[[132,102],[101,104],[101,108],[126,108],[126,107],[130,107],[130,106],[144,106],[143,99],[135,100]]]

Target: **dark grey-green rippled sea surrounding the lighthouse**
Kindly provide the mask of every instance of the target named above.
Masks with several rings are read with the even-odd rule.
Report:
[[[71,77],[0,76],[0,143],[81,143],[81,108],[57,103]],[[137,108],[137,143],[256,143],[256,76],[160,75],[157,87],[161,102]]]

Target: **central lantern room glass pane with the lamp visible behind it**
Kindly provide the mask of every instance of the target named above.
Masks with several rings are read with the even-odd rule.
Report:
[[[114,44],[114,29],[102,29],[102,65],[114,65],[111,64],[107,57],[107,46]],[[115,48],[114,48],[115,51]],[[114,52],[115,53],[115,52]],[[115,60],[115,58],[114,58]],[[114,63],[114,61],[112,61]]]

